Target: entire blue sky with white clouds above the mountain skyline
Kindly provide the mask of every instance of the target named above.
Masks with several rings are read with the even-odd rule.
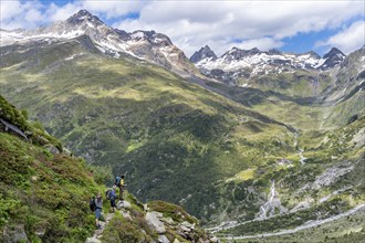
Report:
[[[188,56],[206,44],[218,55],[232,46],[321,55],[336,46],[348,54],[365,40],[363,0],[1,0],[0,28],[33,29],[80,9],[121,30],[165,33]]]

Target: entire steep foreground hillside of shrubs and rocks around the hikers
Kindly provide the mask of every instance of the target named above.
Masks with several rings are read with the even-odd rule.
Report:
[[[105,191],[101,182],[111,175],[70,155],[24,116],[0,96],[1,242],[217,241],[182,208],[163,201],[144,207],[127,191],[115,214],[104,200],[104,229],[88,237],[90,197]]]

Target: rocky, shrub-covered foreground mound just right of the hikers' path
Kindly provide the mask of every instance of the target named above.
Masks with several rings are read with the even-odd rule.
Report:
[[[85,243],[113,240],[159,243],[219,242],[217,237],[204,231],[198,221],[178,205],[163,201],[142,204],[133,196],[127,197],[128,200],[117,203],[115,213],[106,213],[104,222],[101,222],[102,229],[96,230]]]

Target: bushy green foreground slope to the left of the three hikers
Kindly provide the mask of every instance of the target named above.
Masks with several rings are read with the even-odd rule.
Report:
[[[27,141],[0,128],[0,241],[13,240],[9,232],[19,225],[32,242],[86,239],[94,230],[87,201],[98,189],[93,171],[81,159],[51,154],[48,147],[60,144],[1,96],[0,117],[32,133]]]

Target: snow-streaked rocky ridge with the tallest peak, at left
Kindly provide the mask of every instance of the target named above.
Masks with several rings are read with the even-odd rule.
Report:
[[[29,42],[58,42],[87,35],[95,47],[105,54],[119,57],[128,54],[156,63],[177,73],[194,73],[195,68],[169,38],[155,31],[134,31],[107,27],[87,10],[80,10],[64,21],[35,30],[0,30],[0,45],[25,44]]]

